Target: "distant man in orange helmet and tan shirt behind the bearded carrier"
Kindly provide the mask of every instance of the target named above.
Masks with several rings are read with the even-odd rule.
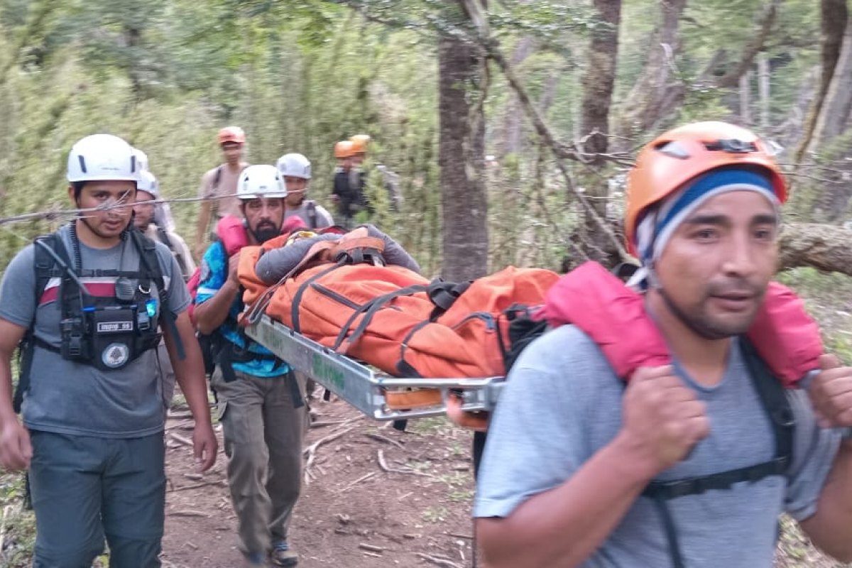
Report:
[[[215,232],[216,223],[225,215],[239,217],[239,199],[236,198],[237,180],[249,164],[242,160],[245,146],[245,132],[239,126],[226,126],[216,136],[224,164],[210,169],[201,176],[199,198],[209,199],[201,202],[198,226],[195,232],[195,255],[199,261],[207,250],[207,237]],[[229,196],[229,197],[222,197]],[[212,231],[211,231],[212,226]]]

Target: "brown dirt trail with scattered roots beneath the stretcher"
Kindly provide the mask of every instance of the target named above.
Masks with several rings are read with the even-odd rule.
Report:
[[[314,403],[315,448],[291,528],[299,566],[351,568],[471,565],[470,433],[444,419],[406,432],[362,416],[343,401]],[[237,524],[225,481],[227,458],[193,473],[192,422],[167,425],[166,568],[239,566]],[[221,436],[221,432],[220,432]]]

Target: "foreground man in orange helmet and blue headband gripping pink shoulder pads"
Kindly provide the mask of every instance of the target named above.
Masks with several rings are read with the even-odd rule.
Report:
[[[627,198],[631,284],[672,364],[625,387],[567,324],[521,353],[478,473],[489,568],[768,566],[780,513],[852,560],[852,369],[816,355],[783,388],[744,339],[786,200],[768,146],[727,123],[673,129],[640,152]]]

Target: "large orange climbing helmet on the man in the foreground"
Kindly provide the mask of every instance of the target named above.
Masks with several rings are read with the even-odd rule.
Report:
[[[766,141],[730,123],[691,123],[659,135],[642,148],[627,175],[625,238],[630,254],[636,255],[636,227],[648,208],[711,169],[763,169],[775,197],[783,204],[786,182],[772,156]]]

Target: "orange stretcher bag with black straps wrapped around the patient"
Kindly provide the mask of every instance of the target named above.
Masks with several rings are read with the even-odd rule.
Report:
[[[430,282],[404,267],[348,264],[359,248],[381,245],[351,233],[320,242],[299,270],[266,288],[254,271],[261,247],[246,247],[239,278],[248,318],[266,313],[395,376],[502,376],[509,323],[504,312],[543,303],[559,278],[548,270],[509,267],[472,283]]]

